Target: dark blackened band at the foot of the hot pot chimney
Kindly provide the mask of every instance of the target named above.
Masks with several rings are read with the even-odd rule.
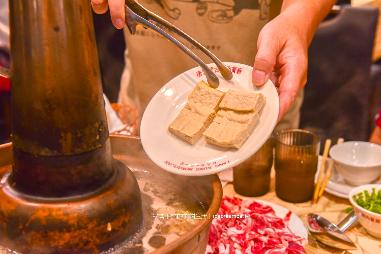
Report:
[[[114,174],[110,141],[80,154],[43,156],[13,148],[14,188],[30,195],[66,197],[94,191]]]

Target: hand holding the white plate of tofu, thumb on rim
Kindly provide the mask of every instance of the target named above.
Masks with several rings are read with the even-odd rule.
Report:
[[[290,109],[307,81],[308,37],[295,19],[280,14],[259,33],[252,81],[271,79],[279,93],[278,121]]]

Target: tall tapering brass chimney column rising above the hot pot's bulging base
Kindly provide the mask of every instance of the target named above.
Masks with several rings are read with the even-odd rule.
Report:
[[[9,7],[14,187],[45,197],[94,191],[115,172],[90,2]]]

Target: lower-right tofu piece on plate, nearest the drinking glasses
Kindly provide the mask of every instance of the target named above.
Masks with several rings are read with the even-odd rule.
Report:
[[[203,135],[218,146],[240,148],[259,120],[258,112],[221,109]]]

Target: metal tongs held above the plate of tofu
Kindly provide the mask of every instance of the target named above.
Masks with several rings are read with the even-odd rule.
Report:
[[[138,24],[141,24],[142,26],[150,28],[158,34],[165,37],[166,39],[170,40],[182,51],[187,53],[187,55],[189,55],[192,59],[194,59],[197,62],[197,64],[199,64],[199,66],[204,71],[207,77],[208,84],[211,87],[217,88],[219,85],[219,80],[216,74],[207,66],[207,64],[205,64],[198,56],[196,56],[191,50],[189,50],[189,48],[185,47],[181,42],[179,42],[174,37],[160,29],[154,23],[151,23],[149,20],[162,24],[163,26],[167,27],[171,31],[186,39],[188,42],[192,43],[195,47],[199,48],[203,53],[205,53],[205,55],[207,55],[209,58],[213,60],[224,79],[232,79],[233,74],[230,71],[230,69],[227,68],[215,55],[213,55],[213,53],[207,50],[207,48],[205,48],[203,45],[201,45],[199,42],[194,40],[192,37],[181,31],[180,29],[178,29],[173,24],[169,23],[165,19],[161,18],[160,16],[157,16],[155,13],[144,8],[140,3],[135,2],[134,0],[125,0],[125,11],[126,25],[132,35],[134,35],[136,32],[136,26]]]

